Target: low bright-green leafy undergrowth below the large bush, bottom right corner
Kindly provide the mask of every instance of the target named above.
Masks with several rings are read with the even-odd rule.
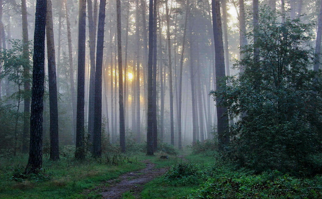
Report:
[[[188,198],[321,198],[322,177],[300,179],[277,171],[253,175],[221,168]]]

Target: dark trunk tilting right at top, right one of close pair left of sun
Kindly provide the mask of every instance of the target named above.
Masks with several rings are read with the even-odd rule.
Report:
[[[102,156],[102,65],[104,49],[104,25],[105,25],[106,0],[99,1],[99,25],[97,31],[97,55],[95,70],[95,101],[94,101],[94,136],[93,155]]]

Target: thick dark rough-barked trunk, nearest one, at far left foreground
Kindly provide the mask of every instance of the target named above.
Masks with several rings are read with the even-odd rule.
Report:
[[[43,92],[47,1],[37,0],[33,37],[33,89],[31,94],[30,147],[25,174],[37,173],[43,163]]]

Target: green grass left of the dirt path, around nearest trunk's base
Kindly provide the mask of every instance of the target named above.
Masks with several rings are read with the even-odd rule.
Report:
[[[91,189],[100,182],[115,179],[119,175],[137,171],[145,165],[133,157],[119,165],[107,165],[104,161],[87,159],[84,162],[72,157],[62,157],[57,162],[43,158],[43,169],[46,179],[33,177],[32,179],[12,178],[14,174],[23,173],[27,163],[27,155],[21,154],[14,158],[0,160],[0,198],[84,198],[84,190]],[[91,193],[90,198],[100,197]]]

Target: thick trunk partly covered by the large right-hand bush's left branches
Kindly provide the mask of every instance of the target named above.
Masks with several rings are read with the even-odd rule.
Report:
[[[213,38],[215,45],[215,72],[216,72],[216,90],[224,89],[225,85],[221,85],[225,77],[225,62],[223,51],[223,32],[220,16],[220,3],[219,0],[212,0],[212,13],[213,13]],[[219,150],[224,150],[229,143],[229,136],[225,134],[228,126],[228,118],[223,114],[227,111],[227,107],[220,106],[221,99],[216,99],[217,104],[217,131]]]

